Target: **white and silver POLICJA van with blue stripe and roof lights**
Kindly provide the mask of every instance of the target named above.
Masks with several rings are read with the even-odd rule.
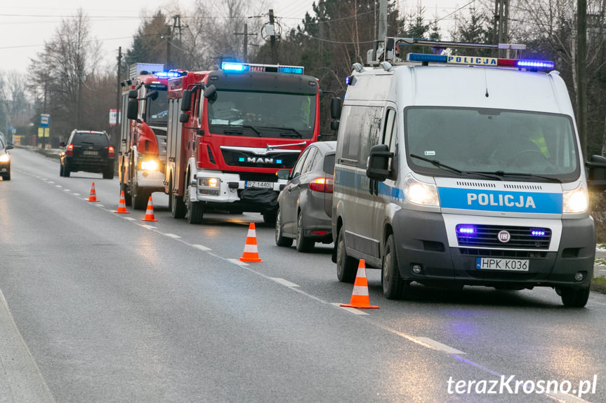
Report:
[[[388,299],[405,299],[411,282],[545,286],[585,306],[595,256],[586,169],[603,177],[606,160],[584,165],[553,62],[404,56],[411,43],[388,39],[383,62],[354,64],[342,108],[331,105],[338,280],[353,282],[364,259],[381,268]]]

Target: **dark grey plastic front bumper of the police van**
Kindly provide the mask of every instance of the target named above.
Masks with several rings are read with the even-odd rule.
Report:
[[[595,229],[591,217],[562,219],[557,252],[452,247],[442,214],[400,210],[393,219],[400,275],[426,285],[527,288],[588,287],[593,277]],[[528,260],[528,271],[476,268],[478,257]],[[421,266],[414,273],[413,266]],[[584,279],[575,280],[581,272]]]

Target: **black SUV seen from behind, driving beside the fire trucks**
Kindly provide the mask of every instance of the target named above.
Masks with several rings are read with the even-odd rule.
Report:
[[[67,140],[65,151],[59,154],[59,175],[69,177],[71,172],[100,172],[103,179],[114,177],[114,147],[106,132],[74,130]]]

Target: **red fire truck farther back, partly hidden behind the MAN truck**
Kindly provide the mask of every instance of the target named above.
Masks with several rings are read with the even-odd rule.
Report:
[[[164,64],[136,63],[124,83],[119,179],[126,203],[136,210],[145,209],[153,192],[164,191],[166,88],[169,77],[180,74],[164,71]]]

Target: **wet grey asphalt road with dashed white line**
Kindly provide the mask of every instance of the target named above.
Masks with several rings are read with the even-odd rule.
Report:
[[[141,221],[112,212],[117,179],[12,156],[0,402],[606,401],[605,295],[569,309],[553,289],[415,286],[411,301],[388,301],[368,270],[381,308],[344,309],[352,287],[336,280],[331,245],[277,247],[258,214],[190,225],[161,193],[158,221]],[[85,201],[93,181],[99,203]],[[246,265],[251,221],[263,263]]]

